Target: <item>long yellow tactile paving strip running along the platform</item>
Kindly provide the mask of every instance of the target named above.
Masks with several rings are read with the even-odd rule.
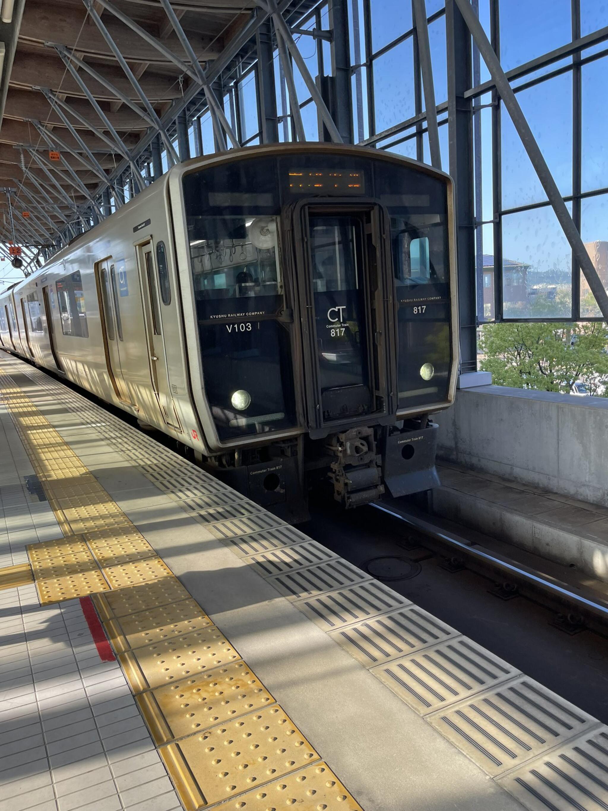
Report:
[[[0,380],[65,536],[29,547],[32,566],[11,567],[5,580],[33,572],[41,603],[92,594],[185,808],[323,811],[340,803],[360,811],[58,431],[6,375]]]

